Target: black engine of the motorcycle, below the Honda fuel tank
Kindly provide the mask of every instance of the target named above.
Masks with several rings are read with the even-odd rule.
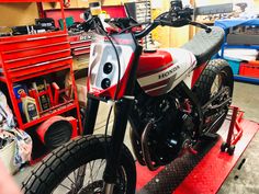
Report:
[[[190,103],[172,93],[158,98],[138,95],[131,117],[142,137],[139,141],[142,145],[146,144],[151,162],[156,166],[168,164],[178,158],[195,135]],[[148,134],[145,133],[147,138],[143,138],[144,130],[150,123],[151,128]]]

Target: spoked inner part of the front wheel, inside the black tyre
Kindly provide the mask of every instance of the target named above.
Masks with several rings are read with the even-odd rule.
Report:
[[[55,187],[53,194],[102,194],[104,187],[102,176],[105,166],[105,159],[98,159],[79,167]],[[125,170],[121,167],[113,193],[125,194],[126,182]]]

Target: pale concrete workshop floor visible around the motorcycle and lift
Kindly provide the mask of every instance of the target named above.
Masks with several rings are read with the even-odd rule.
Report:
[[[248,83],[235,83],[234,102],[233,104],[239,106],[245,111],[245,117],[250,121],[259,123],[259,85]],[[99,114],[99,127],[95,133],[100,134],[103,132],[103,127],[106,118],[106,110],[101,110]],[[125,144],[131,147],[128,135],[125,138]],[[228,175],[219,190],[219,194],[258,194],[259,193],[259,134],[255,136],[251,144],[243,157]],[[240,163],[245,163],[240,166]],[[22,181],[30,174],[33,168],[23,169],[16,175],[15,181],[21,185]],[[190,192],[191,193],[191,192]]]

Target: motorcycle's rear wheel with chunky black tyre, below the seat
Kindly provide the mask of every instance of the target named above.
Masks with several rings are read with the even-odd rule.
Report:
[[[202,72],[196,87],[195,93],[202,106],[206,106],[204,114],[205,126],[214,123],[217,118],[217,124],[214,129],[218,129],[224,123],[230,102],[224,103],[233,96],[234,78],[233,71],[223,59],[214,59],[209,62]],[[210,101],[214,99],[211,103]],[[223,104],[223,105],[222,105]],[[216,107],[213,113],[210,107]]]

